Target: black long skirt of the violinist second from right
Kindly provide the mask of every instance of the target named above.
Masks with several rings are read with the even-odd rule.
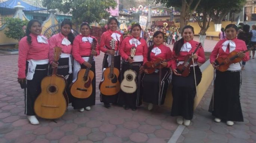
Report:
[[[195,77],[198,85],[202,78],[199,66],[195,66]],[[187,77],[172,75],[172,116],[182,116],[186,120],[193,118],[196,94],[195,77],[193,67],[190,67]]]

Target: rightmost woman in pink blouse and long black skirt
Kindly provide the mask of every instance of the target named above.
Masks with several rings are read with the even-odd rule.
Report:
[[[216,69],[214,81],[214,95],[210,103],[209,111],[215,116],[215,121],[225,120],[226,124],[232,126],[234,121],[244,121],[240,104],[241,86],[241,65],[231,64],[227,71],[218,71],[215,59],[226,58],[230,52],[236,51],[243,61],[249,60],[249,53],[243,40],[237,39],[238,28],[234,24],[229,24],[225,28],[226,39],[220,40],[210,55],[210,62]],[[214,102],[213,102],[214,101]]]

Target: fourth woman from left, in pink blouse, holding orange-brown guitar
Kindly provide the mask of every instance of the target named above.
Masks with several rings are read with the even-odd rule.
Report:
[[[117,19],[115,17],[111,17],[108,19],[108,30],[104,32],[101,36],[101,44],[99,49],[105,53],[103,62],[102,62],[102,70],[110,66],[111,62],[111,54],[114,55],[114,67],[117,68],[120,72],[121,67],[121,58],[119,55],[120,44],[123,40],[123,34],[117,31]],[[110,46],[111,39],[115,39],[115,50],[113,51]],[[120,82],[120,75],[118,77]],[[110,108],[110,103],[117,103],[118,93],[114,95],[104,95],[100,94],[101,102],[104,103],[106,108]]]

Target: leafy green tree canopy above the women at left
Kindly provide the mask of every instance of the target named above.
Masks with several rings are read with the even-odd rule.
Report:
[[[117,3],[115,0],[43,0],[43,6],[72,14],[73,22],[80,24],[108,19],[109,10],[115,9]]]

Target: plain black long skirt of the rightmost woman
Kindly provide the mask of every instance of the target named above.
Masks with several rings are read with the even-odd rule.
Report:
[[[216,70],[214,96],[209,111],[227,121],[244,121],[240,104],[241,71]]]

